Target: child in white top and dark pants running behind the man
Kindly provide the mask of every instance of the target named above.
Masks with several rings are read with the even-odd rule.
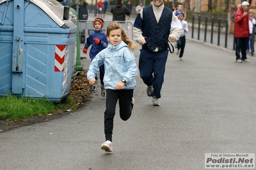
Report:
[[[188,32],[188,22],[184,20],[184,13],[179,14],[180,23],[182,25],[182,31],[180,35],[180,39],[177,41],[177,52],[176,54],[180,54],[179,58],[182,60],[182,56],[184,53],[185,45],[186,45],[186,36],[185,34]],[[179,53],[180,50],[180,53]]]

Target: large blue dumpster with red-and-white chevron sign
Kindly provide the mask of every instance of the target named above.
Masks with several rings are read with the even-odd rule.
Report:
[[[61,4],[0,1],[0,96],[67,98],[77,31],[68,15]]]

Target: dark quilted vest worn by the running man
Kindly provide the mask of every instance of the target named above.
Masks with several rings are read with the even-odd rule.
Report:
[[[157,23],[152,6],[143,8],[142,31],[147,43],[142,46],[142,49],[153,51],[157,47],[160,52],[167,49],[165,40],[168,40],[170,35],[172,13],[172,10],[164,7]]]

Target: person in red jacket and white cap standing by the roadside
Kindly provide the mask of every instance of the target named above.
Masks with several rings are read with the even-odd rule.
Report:
[[[241,8],[237,10],[235,15],[235,37],[236,37],[236,62],[238,63],[250,63],[246,58],[246,42],[247,38],[250,37],[249,31],[249,10],[250,4],[246,1],[241,3]],[[240,57],[240,51],[242,58]]]

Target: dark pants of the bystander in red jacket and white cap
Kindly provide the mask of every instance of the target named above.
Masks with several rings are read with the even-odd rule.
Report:
[[[247,37],[236,38],[236,60],[237,59],[247,59],[246,58],[246,45],[247,45]],[[240,58],[240,50],[242,53],[242,58]]]

